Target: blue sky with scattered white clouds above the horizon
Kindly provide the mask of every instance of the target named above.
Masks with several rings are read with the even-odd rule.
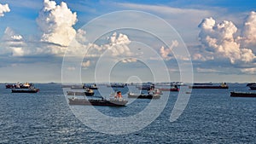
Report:
[[[255,82],[255,0],[0,0],[0,83]]]

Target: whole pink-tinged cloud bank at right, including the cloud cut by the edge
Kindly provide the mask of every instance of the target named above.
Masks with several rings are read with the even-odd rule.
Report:
[[[210,17],[201,21],[199,39],[207,51],[212,52],[215,58],[227,58],[230,63],[253,62],[255,55],[248,48],[249,44],[255,44],[256,16],[251,12],[244,21],[241,34],[232,21],[224,20],[221,23]]]

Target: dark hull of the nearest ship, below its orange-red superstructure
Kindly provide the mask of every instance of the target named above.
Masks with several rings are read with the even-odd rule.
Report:
[[[128,102],[125,99],[78,99],[78,98],[68,98],[70,105],[89,105],[89,106],[112,106],[112,107],[124,107]]]

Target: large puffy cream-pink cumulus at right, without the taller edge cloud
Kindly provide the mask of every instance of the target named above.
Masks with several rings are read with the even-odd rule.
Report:
[[[216,23],[211,17],[202,20],[199,27],[201,28],[199,34],[201,43],[205,49],[213,52],[215,57],[228,58],[232,64],[254,60],[253,50],[241,44],[241,41],[247,38],[237,34],[237,27],[232,21],[224,20]]]

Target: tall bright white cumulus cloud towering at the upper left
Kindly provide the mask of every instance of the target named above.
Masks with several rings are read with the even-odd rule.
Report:
[[[77,14],[67,8],[67,3],[57,5],[55,1],[44,0],[37,22],[43,32],[43,42],[68,46],[76,35],[73,25],[77,22]]]

